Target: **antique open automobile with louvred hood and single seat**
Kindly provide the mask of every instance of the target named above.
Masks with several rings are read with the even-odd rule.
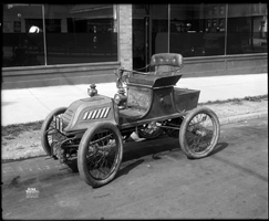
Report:
[[[94,188],[114,179],[123,143],[134,131],[147,139],[165,134],[178,138],[188,158],[208,156],[219,139],[219,120],[208,107],[197,107],[200,91],[175,86],[183,56],[154,54],[146,67],[148,72],[117,69],[113,98],[91,84],[90,97],[52,110],[41,128],[44,151],[79,170]]]

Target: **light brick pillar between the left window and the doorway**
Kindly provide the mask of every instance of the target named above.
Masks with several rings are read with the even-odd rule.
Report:
[[[118,54],[121,66],[133,69],[133,32],[132,32],[132,4],[118,4]]]

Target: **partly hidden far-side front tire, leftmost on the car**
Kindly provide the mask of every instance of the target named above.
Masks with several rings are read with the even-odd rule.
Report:
[[[49,129],[49,126],[53,119],[54,115],[63,114],[68,107],[58,107],[53,109],[44,119],[42,127],[41,127],[41,146],[46,155],[51,156],[51,146],[49,145],[48,137],[45,131]]]

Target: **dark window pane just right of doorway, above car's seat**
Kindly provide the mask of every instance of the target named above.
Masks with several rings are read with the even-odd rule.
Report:
[[[224,55],[226,4],[170,4],[169,52]]]

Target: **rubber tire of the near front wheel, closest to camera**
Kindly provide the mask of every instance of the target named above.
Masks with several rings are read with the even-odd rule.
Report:
[[[85,156],[86,156],[90,140],[95,135],[95,131],[101,129],[111,129],[116,135],[115,138],[118,141],[118,155],[117,155],[118,158],[112,173],[106,179],[96,180],[87,171]],[[107,122],[95,123],[84,133],[79,146],[77,167],[79,167],[80,176],[87,185],[92,186],[93,188],[102,187],[114,179],[114,177],[116,176],[120,169],[122,157],[123,157],[123,141],[122,141],[122,135],[120,133],[120,129],[115,125]]]

